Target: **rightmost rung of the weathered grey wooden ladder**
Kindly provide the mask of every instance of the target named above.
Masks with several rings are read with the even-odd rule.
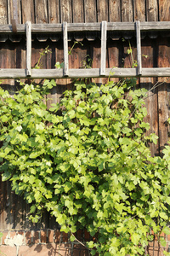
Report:
[[[138,75],[142,74],[142,59],[141,59],[141,39],[140,39],[140,21],[136,21],[136,43],[137,43],[137,62]]]

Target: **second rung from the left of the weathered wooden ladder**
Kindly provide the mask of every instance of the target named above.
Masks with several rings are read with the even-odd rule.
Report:
[[[63,44],[64,44],[64,76],[69,75],[69,57],[68,57],[68,35],[67,22],[63,22]]]

